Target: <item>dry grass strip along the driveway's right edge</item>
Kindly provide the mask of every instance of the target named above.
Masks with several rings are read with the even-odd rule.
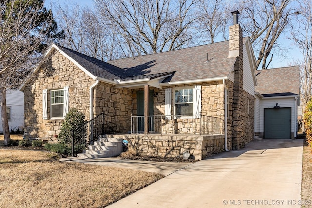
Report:
[[[302,208],[312,208],[312,148],[309,146],[303,147],[301,198]]]

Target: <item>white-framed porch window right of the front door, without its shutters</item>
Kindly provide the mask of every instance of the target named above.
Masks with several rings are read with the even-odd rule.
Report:
[[[193,88],[175,90],[175,114],[193,115]]]

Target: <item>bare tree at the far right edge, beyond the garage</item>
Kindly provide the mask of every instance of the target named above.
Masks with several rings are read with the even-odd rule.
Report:
[[[312,2],[300,2],[300,15],[296,22],[299,27],[292,27],[292,39],[300,48],[303,61],[300,63],[300,101],[304,111],[306,103],[312,98]]]

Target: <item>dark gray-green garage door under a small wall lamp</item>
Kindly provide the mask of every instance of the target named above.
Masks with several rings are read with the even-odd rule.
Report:
[[[291,138],[291,108],[264,109],[264,138]]]

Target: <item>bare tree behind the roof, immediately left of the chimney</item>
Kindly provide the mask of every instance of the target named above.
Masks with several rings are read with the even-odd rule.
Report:
[[[205,41],[214,43],[216,39],[227,39],[226,27],[231,14],[226,8],[223,0],[200,0],[197,30]]]

